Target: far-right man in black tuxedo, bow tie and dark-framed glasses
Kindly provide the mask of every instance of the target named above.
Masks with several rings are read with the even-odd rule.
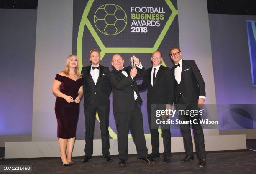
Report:
[[[182,52],[179,47],[172,47],[170,56],[174,61],[172,73],[174,75],[174,92],[175,103],[179,110],[198,110],[204,104],[205,99],[205,82],[202,78],[194,60],[183,60]],[[179,115],[179,120],[195,120],[199,122],[200,115],[195,117]],[[190,131],[190,124],[180,124],[183,142],[186,152],[186,157],[182,162],[188,162],[194,159],[193,144]],[[204,133],[201,124],[192,124],[195,148],[197,158],[199,159],[198,166],[206,165],[206,152]]]

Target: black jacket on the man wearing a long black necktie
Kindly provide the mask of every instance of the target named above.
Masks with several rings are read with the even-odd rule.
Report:
[[[138,85],[139,91],[148,89],[147,107],[151,108],[151,104],[172,104],[174,98],[173,80],[171,69],[160,66],[156,74],[153,86],[151,85],[152,68],[147,69],[147,75],[144,77],[141,85]]]

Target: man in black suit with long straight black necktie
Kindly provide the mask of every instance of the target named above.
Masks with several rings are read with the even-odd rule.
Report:
[[[152,153],[151,158],[160,157],[159,154],[159,133],[156,124],[156,109],[165,110],[166,104],[173,103],[173,85],[168,67],[161,65],[163,58],[161,52],[155,51],[152,54],[151,61],[153,67],[147,69],[147,75],[144,77],[141,85],[138,85],[139,91],[148,89],[147,94],[147,111],[148,122],[151,134]],[[154,104],[151,106],[151,104]],[[152,108],[156,107],[156,108]],[[168,107],[168,106],[167,106]],[[152,111],[152,115],[151,115]],[[154,112],[154,113],[153,113]],[[167,117],[168,118],[168,117]],[[163,162],[170,162],[171,157],[171,132],[170,125],[161,125],[162,137],[164,141],[164,159]]]

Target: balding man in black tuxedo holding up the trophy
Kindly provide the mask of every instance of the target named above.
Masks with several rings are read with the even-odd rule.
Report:
[[[112,57],[113,71],[110,72],[109,82],[113,89],[113,112],[118,130],[119,165],[125,166],[128,159],[128,133],[131,129],[133,141],[138,153],[138,161],[154,163],[148,158],[148,149],[144,137],[143,120],[139,104],[142,103],[138,93],[135,77],[146,75],[145,68],[138,58],[134,58],[136,68],[124,67],[121,55]]]

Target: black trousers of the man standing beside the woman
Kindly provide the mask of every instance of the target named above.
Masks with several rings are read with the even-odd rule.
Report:
[[[100,119],[101,145],[102,154],[109,155],[109,106],[97,106],[97,100],[94,104],[84,107],[85,111],[85,148],[84,152],[89,157],[93,154],[93,135],[96,119],[96,111],[98,111]]]

